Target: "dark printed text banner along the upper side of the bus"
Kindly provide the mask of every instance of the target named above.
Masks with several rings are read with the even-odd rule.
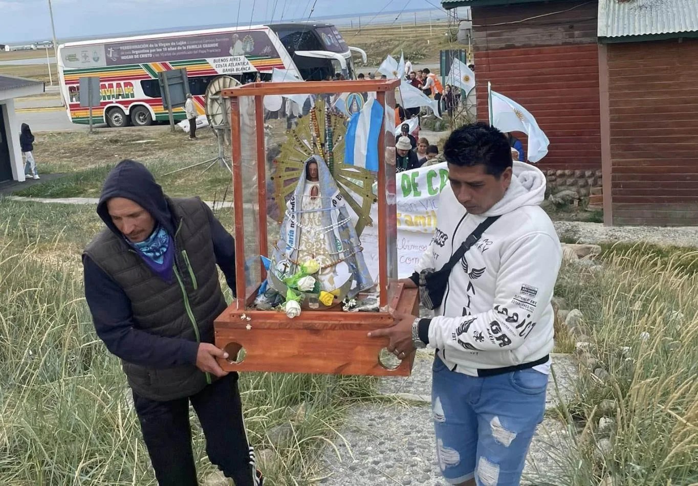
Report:
[[[66,47],[61,51],[69,69],[224,57],[279,57],[265,31],[126,40],[119,43]]]

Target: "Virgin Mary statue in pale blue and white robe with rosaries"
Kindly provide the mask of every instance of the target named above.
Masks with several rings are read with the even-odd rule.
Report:
[[[352,297],[373,287],[354,223],[327,164],[313,156],[304,163],[303,175],[286,204],[270,270],[283,280],[315,260],[320,290],[350,288]],[[274,281],[270,284],[274,287]]]

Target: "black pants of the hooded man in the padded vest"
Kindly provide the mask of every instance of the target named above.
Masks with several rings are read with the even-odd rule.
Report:
[[[254,454],[247,442],[237,374],[218,379],[188,398],[156,402],[133,392],[155,476],[160,486],[197,486],[191,450],[189,402],[206,436],[211,462],[235,481],[235,486],[254,486]]]

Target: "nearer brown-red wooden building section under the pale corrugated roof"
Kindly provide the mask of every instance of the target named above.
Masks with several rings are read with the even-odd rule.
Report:
[[[698,1],[600,0],[604,222],[698,225]]]

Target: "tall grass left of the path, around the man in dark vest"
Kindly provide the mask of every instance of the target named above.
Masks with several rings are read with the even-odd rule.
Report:
[[[94,206],[0,199],[0,221],[0,484],[155,485],[119,360],[84,302],[80,252],[101,227]],[[324,438],[374,382],[244,374],[240,383],[269,484],[290,486],[313,478]],[[203,479],[216,468],[192,424]]]

